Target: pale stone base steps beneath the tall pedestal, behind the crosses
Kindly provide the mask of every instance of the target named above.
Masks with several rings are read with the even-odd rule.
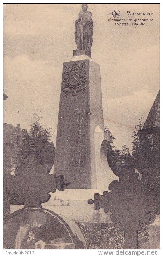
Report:
[[[94,204],[87,203],[89,198],[94,198],[94,193],[102,195],[98,189],[57,190],[55,193],[50,193],[50,200],[42,203],[42,207],[76,222],[112,223],[110,212],[104,213],[103,209],[95,211]],[[23,205],[10,205],[10,213],[23,207]]]

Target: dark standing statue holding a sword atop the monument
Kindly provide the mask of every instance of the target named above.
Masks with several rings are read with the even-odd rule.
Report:
[[[87,11],[88,5],[82,4],[82,11],[75,21],[75,42],[78,50],[86,50],[91,53],[93,21],[92,13]]]

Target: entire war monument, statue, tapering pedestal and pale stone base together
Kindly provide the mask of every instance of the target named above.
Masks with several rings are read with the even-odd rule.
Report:
[[[63,63],[56,133],[54,174],[64,175],[71,184],[50,193],[42,206],[75,221],[108,222],[102,209],[95,212],[87,205],[94,193],[101,194],[118,180],[106,157],[109,134],[104,132],[100,66],[91,59],[93,21],[87,8],[82,4],[75,21],[77,50]]]

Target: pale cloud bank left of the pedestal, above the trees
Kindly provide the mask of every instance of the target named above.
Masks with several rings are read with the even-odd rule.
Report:
[[[42,109],[44,123],[56,127],[61,88],[62,67],[48,65],[41,60],[30,60],[23,54],[4,59],[5,102],[4,122],[16,124],[20,112],[22,128],[28,128],[31,112]]]

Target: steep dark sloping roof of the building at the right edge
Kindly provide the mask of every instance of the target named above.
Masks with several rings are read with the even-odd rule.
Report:
[[[150,109],[143,129],[156,126],[160,126],[160,91],[158,92],[156,99]]]

